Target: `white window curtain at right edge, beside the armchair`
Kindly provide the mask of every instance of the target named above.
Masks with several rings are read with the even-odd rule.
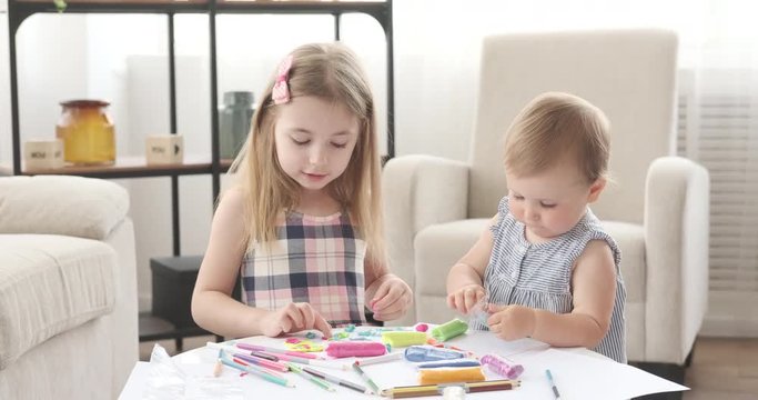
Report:
[[[709,309],[703,334],[758,337],[756,4],[700,1],[680,34],[677,151],[710,172]]]

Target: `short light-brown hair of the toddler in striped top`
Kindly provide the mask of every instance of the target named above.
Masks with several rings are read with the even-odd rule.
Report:
[[[574,161],[589,183],[608,178],[610,123],[603,111],[577,96],[547,92],[516,116],[505,139],[505,169],[516,176]]]

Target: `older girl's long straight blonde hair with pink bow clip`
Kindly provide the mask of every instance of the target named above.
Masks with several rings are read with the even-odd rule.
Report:
[[[377,268],[386,262],[382,223],[380,154],[375,107],[368,80],[356,58],[340,43],[313,43],[292,53],[290,97],[317,97],[344,106],[358,119],[360,133],[345,171],[330,183],[332,196],[348,212],[362,239],[367,260]],[[244,240],[276,239],[276,219],[300,201],[300,184],[281,168],[274,142],[276,111],[272,100],[275,72],[253,116],[247,140],[232,163],[245,197]]]

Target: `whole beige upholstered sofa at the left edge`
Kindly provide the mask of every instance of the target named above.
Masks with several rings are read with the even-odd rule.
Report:
[[[114,399],[138,360],[129,196],[0,178],[0,399]]]

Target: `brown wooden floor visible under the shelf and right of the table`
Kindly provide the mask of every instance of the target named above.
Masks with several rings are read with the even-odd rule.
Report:
[[[184,339],[184,350],[214,341],[212,336]],[[154,342],[140,343],[140,360],[150,359]],[[161,340],[175,354],[173,340]],[[685,376],[684,400],[758,400],[758,339],[698,338]]]

